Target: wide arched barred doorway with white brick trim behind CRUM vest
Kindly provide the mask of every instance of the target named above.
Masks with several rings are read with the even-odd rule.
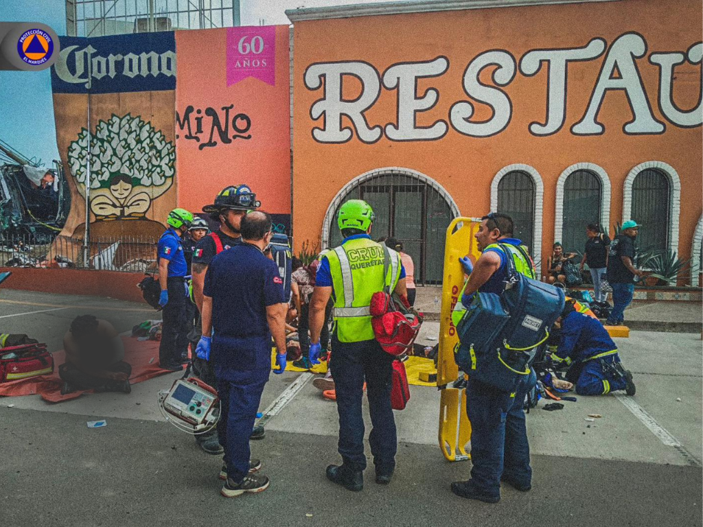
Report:
[[[415,264],[415,282],[441,283],[446,229],[459,214],[444,188],[410,169],[378,169],[354,178],[328,208],[323,247],[337,247],[342,242],[337,213],[347,200],[370,204],[376,217],[372,238],[393,237],[403,244]]]

